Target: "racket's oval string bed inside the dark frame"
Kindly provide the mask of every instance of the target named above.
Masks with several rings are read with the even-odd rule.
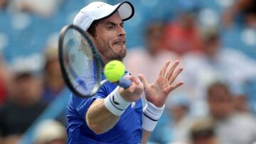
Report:
[[[63,49],[68,79],[78,92],[90,95],[99,81],[98,62],[94,57],[92,45],[81,33],[70,29],[65,34]]]

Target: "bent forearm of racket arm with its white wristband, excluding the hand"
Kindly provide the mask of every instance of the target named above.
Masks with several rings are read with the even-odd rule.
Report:
[[[130,104],[131,102],[122,98],[117,87],[105,99],[92,102],[85,115],[87,126],[97,134],[109,131]]]

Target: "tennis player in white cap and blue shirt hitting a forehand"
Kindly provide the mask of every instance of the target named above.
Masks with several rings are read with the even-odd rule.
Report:
[[[133,14],[134,7],[127,1],[114,6],[92,2],[80,10],[73,23],[90,34],[105,62],[123,60],[126,55],[123,21]],[[126,78],[132,85],[127,89],[107,83],[91,98],[70,96],[68,143],[146,143],[164,110],[166,96],[183,84],[173,84],[182,71],[175,70],[178,61],[166,71],[169,64],[170,61],[164,64],[153,84],[142,74],[139,79],[128,75]],[[142,114],[143,89],[147,102]]]

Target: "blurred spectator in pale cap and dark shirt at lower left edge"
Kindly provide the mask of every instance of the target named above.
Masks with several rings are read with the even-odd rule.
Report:
[[[20,65],[22,64],[22,65]],[[46,108],[41,101],[42,84],[38,72],[19,60],[12,69],[11,95],[0,108],[0,137],[4,143],[14,143]]]

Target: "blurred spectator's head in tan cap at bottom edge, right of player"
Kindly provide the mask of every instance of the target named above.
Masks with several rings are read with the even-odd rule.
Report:
[[[213,121],[209,118],[201,118],[195,121],[189,134],[191,144],[220,144],[215,133]]]

